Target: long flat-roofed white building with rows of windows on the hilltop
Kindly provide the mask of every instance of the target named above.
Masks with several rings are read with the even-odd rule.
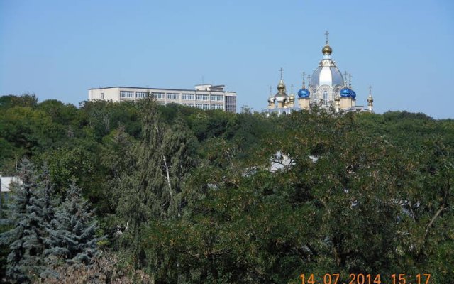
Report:
[[[222,109],[236,112],[236,92],[225,91],[224,85],[198,84],[194,89],[157,89],[140,87],[105,87],[88,90],[88,99],[113,102],[135,102],[153,97],[158,104],[182,104],[199,109]]]

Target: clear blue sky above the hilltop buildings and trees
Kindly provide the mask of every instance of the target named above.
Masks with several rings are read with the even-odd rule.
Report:
[[[357,104],[454,118],[453,0],[0,0],[0,95],[79,105],[90,87],[225,84],[267,106],[279,68],[301,87],[322,58],[353,75]]]

